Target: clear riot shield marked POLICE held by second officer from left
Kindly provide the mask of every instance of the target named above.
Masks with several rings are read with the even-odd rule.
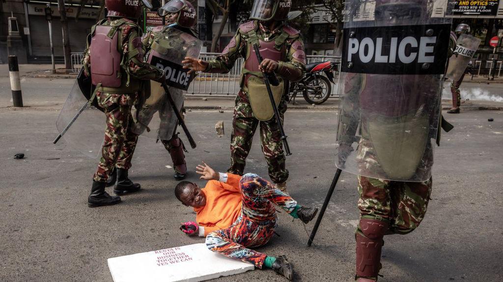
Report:
[[[147,62],[164,70],[166,84],[179,110],[185,98],[183,90],[189,88],[195,76],[183,69],[182,60],[185,57],[199,57],[201,47],[199,39],[176,28],[166,27],[154,35]],[[133,112],[136,118],[133,132],[157,139],[171,139],[178,119],[166,99],[164,89],[155,81],[143,89],[144,100]]]

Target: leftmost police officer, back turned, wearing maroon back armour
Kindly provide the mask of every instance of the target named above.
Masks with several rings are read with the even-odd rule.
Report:
[[[144,4],[150,6],[148,2]],[[115,205],[121,201],[120,197],[105,192],[106,181],[114,167],[117,168],[116,194],[140,189],[139,184],[128,178],[138,139],[130,129],[133,123],[131,107],[137,103],[141,80],[164,81],[161,69],[143,62],[145,50],[140,29],[134,22],[140,16],[140,2],[106,0],[105,5],[108,18],[92,27],[82,62],[97,86],[95,94],[107,118],[102,158],[88,198],[90,207]]]

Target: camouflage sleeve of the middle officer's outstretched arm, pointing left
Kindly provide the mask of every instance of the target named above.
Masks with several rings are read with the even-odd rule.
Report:
[[[242,38],[239,31],[230,40],[230,43],[225,47],[222,54],[215,59],[208,61],[209,65],[204,72],[212,73],[228,73],[236,60],[241,57]]]

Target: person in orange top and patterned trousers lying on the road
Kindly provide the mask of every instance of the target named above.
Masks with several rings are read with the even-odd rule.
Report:
[[[201,179],[209,180],[206,187],[183,181],[175,188],[177,198],[197,214],[197,223],[183,223],[180,229],[188,235],[206,237],[206,245],[214,252],[259,268],[272,268],[291,280],[293,268],[286,256],[268,256],[248,247],[265,245],[273,236],[277,226],[274,205],[304,223],[311,221],[318,209],[297,205],[292,197],[256,174],[241,177],[216,173],[205,163],[198,165],[196,172]]]

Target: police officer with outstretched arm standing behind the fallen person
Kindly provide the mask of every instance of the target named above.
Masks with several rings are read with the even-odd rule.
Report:
[[[242,57],[244,64],[241,71],[241,90],[235,99],[231,136],[231,165],[227,172],[242,175],[246,157],[251,149],[253,135],[260,126],[262,152],[266,157],[269,176],[277,187],[286,191],[288,170],[285,168],[285,155],[281,134],[272,116],[268,120],[259,119],[261,106],[269,102],[266,89],[252,93],[248,87],[250,81],[262,78],[262,71],[276,73],[286,81],[298,81],[305,71],[304,44],[300,32],[290,27],[285,21],[292,6],[291,0],[255,0],[250,19],[239,26],[236,35],[216,59],[204,62],[187,58],[185,64],[195,71],[210,73],[227,73],[235,61]],[[254,54],[253,45],[258,44],[264,61],[259,65]],[[287,109],[286,97],[288,87],[278,100],[278,111],[281,120]],[[262,99],[262,100],[261,100]],[[263,100],[266,99],[266,100]]]

